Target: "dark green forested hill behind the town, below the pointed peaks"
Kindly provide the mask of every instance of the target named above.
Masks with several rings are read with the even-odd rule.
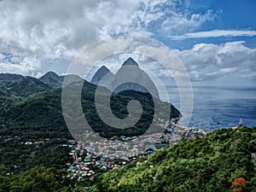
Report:
[[[70,86],[75,86],[75,84],[70,84]],[[84,82],[82,107],[84,115],[94,131],[101,132],[103,137],[113,137],[113,135],[141,135],[148,129],[154,117],[154,103],[148,93],[125,90],[118,95],[112,96],[111,107],[113,113],[119,118],[127,116],[126,106],[132,99],[140,101],[143,105],[143,115],[139,122],[128,131],[120,130],[116,132],[112,127],[105,125],[98,116],[94,103],[95,90],[96,85]],[[163,102],[160,102],[160,104],[163,104]],[[170,119],[177,118],[179,115],[177,109],[170,105],[170,110],[172,110]],[[30,129],[43,132],[49,129],[55,129],[55,131],[67,130],[67,125],[62,116],[61,88],[40,92],[28,96],[20,102],[16,102],[8,110],[2,112],[1,119],[3,119],[5,124],[14,128],[12,131],[13,135],[17,134],[18,130],[16,127],[22,130]]]

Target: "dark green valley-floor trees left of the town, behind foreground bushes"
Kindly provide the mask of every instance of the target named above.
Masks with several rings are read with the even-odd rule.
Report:
[[[40,145],[20,143],[19,138],[9,141],[0,140],[0,162],[8,172],[20,172],[34,166],[67,168],[66,163],[72,162],[68,153],[70,148],[62,146],[67,139],[51,139]]]

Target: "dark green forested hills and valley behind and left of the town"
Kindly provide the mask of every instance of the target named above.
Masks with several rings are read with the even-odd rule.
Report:
[[[79,80],[79,77],[70,77]],[[71,148],[63,147],[68,139],[73,139],[62,115],[59,86],[63,79],[55,73],[47,73],[41,79],[0,74],[0,165],[4,165],[8,172],[26,171],[34,166],[60,169],[71,162],[68,155]],[[131,99],[143,102],[144,106],[142,120],[131,131],[116,132],[97,116],[95,90],[95,84],[84,81],[82,105],[95,131],[104,137],[130,136],[141,134],[148,128],[152,120],[149,114],[154,112],[150,95],[135,91],[113,95],[113,113],[120,118],[127,114],[126,103]],[[177,109],[171,109],[172,117],[177,117]]]

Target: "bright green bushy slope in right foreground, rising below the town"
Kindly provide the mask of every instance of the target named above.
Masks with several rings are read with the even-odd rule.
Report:
[[[141,158],[103,174],[90,190],[255,191],[256,165],[251,157],[255,152],[255,128],[213,131],[205,138],[183,139],[161,148],[148,160]],[[137,161],[142,166],[137,167]],[[236,179],[240,177],[245,185],[239,185],[243,179]]]

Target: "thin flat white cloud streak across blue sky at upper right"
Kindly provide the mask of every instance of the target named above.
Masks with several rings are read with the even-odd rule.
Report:
[[[169,36],[172,40],[182,40],[186,38],[219,38],[219,37],[253,37],[256,31],[245,30],[212,30],[207,32],[189,32],[183,35]]]

